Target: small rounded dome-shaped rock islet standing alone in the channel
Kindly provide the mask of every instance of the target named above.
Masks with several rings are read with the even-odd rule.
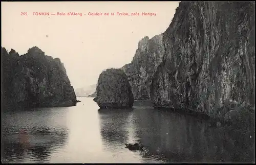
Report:
[[[93,100],[102,109],[131,108],[134,103],[132,87],[121,69],[106,69],[99,75],[97,97]]]

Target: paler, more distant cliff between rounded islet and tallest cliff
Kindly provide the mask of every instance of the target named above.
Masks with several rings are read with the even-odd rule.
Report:
[[[146,36],[139,41],[132,62],[121,68],[128,76],[135,100],[150,99],[152,77],[162,60],[163,48],[162,34],[151,39]]]

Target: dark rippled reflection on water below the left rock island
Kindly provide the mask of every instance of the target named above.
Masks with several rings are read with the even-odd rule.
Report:
[[[57,121],[51,116],[59,116]],[[59,108],[6,112],[2,117],[2,157],[6,163],[48,162],[67,140]],[[22,130],[26,129],[26,133]]]

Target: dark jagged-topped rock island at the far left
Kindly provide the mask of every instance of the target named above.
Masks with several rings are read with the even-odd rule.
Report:
[[[4,106],[75,106],[76,95],[60,59],[34,46],[19,56],[2,48]]]

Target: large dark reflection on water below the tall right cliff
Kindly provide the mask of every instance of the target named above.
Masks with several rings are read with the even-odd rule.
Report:
[[[135,116],[136,134],[143,145],[167,162],[254,161],[253,132],[209,128],[193,116],[156,109],[137,110]]]

